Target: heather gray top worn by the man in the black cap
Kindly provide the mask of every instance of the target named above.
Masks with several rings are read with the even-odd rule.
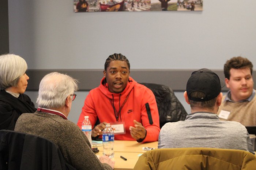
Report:
[[[210,112],[195,112],[184,121],[166,123],[160,130],[158,148],[208,147],[239,149],[254,153],[246,128],[222,121]]]

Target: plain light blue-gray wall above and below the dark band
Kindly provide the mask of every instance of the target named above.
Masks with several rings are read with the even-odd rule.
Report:
[[[238,55],[256,66],[255,0],[204,0],[202,12],[74,13],[72,0],[8,3],[10,52],[29,69],[103,69],[115,52],[127,56],[131,71],[222,69]],[[37,92],[26,93],[36,101]],[[88,92],[77,93],[75,123]],[[190,112],[183,92],[175,94]]]

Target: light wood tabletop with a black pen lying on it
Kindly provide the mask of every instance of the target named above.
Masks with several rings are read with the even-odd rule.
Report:
[[[116,161],[114,170],[128,170],[133,169],[136,162],[139,159],[139,156],[145,153],[146,151],[142,150],[142,147],[152,147],[157,148],[157,142],[148,142],[148,143],[138,143],[137,141],[114,141],[114,158],[113,160]],[[96,155],[102,156],[103,153],[103,146],[97,146],[99,153]],[[127,159],[120,158],[123,156]]]

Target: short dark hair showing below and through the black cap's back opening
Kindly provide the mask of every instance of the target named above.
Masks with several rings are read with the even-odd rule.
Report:
[[[193,92],[191,92],[190,96],[192,96],[193,98],[205,98],[206,97],[206,95],[200,91],[193,91]],[[215,103],[217,101],[217,97],[215,97],[211,100],[208,100],[208,101],[203,101],[203,102],[197,102],[197,101],[190,100],[190,99],[188,99],[188,101],[190,102],[191,108],[201,107],[201,108],[213,109],[215,106]]]

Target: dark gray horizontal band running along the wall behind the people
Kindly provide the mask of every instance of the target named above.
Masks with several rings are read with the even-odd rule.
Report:
[[[99,86],[99,82],[103,77],[103,69],[81,69],[81,70],[28,70],[29,84],[27,90],[37,91],[39,83],[44,75],[57,71],[64,74],[68,74],[75,79],[79,80],[79,90],[89,91]],[[157,83],[164,84],[173,89],[173,91],[185,91],[187,80],[191,73],[195,70],[144,70],[144,69],[133,69],[131,70],[130,76],[137,82],[145,83]],[[224,83],[224,74],[222,70],[215,71]],[[256,71],[253,72],[255,75]],[[256,78],[254,78],[256,82]],[[256,85],[254,86],[254,88]],[[226,87],[223,87],[223,91],[227,91]]]

